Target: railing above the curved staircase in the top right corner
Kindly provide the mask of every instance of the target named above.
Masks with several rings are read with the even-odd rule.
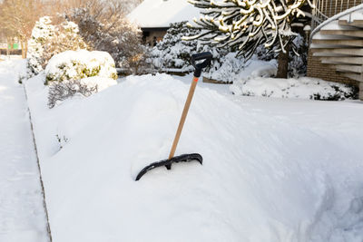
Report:
[[[315,29],[331,16],[363,4],[363,0],[313,0],[312,2],[315,8],[312,10],[311,29]]]

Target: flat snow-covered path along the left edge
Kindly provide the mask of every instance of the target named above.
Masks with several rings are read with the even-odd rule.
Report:
[[[22,66],[0,62],[0,242],[48,241],[25,93],[17,83]]]

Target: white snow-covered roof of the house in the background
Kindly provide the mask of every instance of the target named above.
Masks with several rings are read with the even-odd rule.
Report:
[[[142,28],[163,28],[199,15],[200,10],[187,0],[144,0],[127,18]]]

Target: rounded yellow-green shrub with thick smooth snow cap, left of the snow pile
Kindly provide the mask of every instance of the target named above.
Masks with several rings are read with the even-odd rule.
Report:
[[[92,76],[117,79],[113,57],[109,53],[66,51],[55,54],[45,68],[45,84]]]

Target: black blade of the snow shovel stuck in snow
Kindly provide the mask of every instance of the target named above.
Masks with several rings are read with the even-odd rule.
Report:
[[[180,155],[180,156],[175,156],[172,159],[160,160],[160,161],[153,162],[152,164],[148,165],[147,167],[145,167],[144,169],[142,169],[139,172],[139,174],[136,177],[136,180],[141,179],[142,176],[151,169],[162,167],[162,166],[165,166],[167,169],[171,169],[172,168],[172,163],[189,162],[189,161],[192,161],[192,160],[197,160],[201,164],[203,163],[203,158],[198,153],[183,154],[183,155]]]

